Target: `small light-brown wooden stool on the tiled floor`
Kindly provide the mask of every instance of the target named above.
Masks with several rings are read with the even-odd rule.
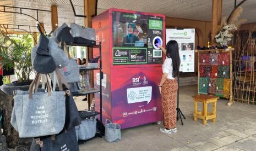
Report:
[[[219,97],[211,95],[195,95],[194,97],[194,121],[197,118],[203,119],[203,124],[206,125],[207,120],[211,119],[212,122],[216,121],[216,103]],[[203,103],[203,111],[197,111],[197,102]],[[213,103],[213,112],[207,112],[208,103]]]

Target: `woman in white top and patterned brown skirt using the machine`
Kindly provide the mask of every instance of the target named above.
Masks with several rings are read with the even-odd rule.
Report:
[[[162,79],[159,83],[159,90],[162,96],[162,112],[164,114],[164,126],[160,131],[165,133],[177,132],[176,128],[176,100],[179,75],[179,59],[178,43],[175,40],[170,40],[166,49],[158,45],[165,53],[166,59],[162,65]]]

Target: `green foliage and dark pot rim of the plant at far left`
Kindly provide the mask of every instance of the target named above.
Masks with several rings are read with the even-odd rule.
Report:
[[[14,89],[26,90],[30,84],[29,76],[33,72],[31,63],[32,38],[29,34],[10,38],[6,32],[0,32],[0,58],[4,69],[14,69],[17,82],[1,86],[7,94]]]

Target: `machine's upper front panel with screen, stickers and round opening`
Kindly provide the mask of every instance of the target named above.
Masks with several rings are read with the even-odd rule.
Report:
[[[113,65],[162,63],[163,18],[112,11],[112,25]]]

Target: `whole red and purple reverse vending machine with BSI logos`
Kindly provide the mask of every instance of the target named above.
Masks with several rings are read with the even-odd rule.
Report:
[[[112,8],[95,16],[92,27],[102,44],[102,122],[110,119],[126,129],[161,121],[158,84],[165,56],[156,43],[165,44],[165,16]],[[94,76],[99,86],[99,71]]]

